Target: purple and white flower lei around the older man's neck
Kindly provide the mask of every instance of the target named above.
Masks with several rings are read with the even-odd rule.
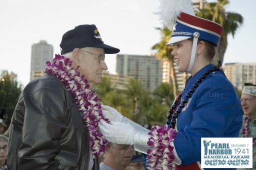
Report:
[[[56,75],[75,97],[76,105],[83,112],[82,119],[89,130],[90,149],[94,158],[104,152],[107,143],[99,131],[99,120],[104,119],[106,122],[109,120],[102,114],[101,99],[92,89],[88,89],[90,85],[87,79],[84,75],[79,76],[78,67],[76,69],[71,67],[71,63],[69,58],[55,54],[52,63],[46,62],[45,72]]]

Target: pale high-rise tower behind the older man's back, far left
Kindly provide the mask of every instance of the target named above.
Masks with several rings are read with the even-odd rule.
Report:
[[[40,40],[39,43],[32,44],[31,47],[31,65],[30,65],[30,80],[33,80],[45,73],[45,62],[52,60],[53,46],[47,44],[45,40]]]

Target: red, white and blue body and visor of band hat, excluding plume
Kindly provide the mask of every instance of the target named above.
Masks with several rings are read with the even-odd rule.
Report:
[[[195,32],[198,32],[198,38],[213,42],[217,46],[222,31],[223,27],[218,23],[181,12],[175,19],[167,45],[172,46],[174,42],[191,38]]]

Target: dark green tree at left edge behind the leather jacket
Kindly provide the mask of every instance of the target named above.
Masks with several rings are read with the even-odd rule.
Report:
[[[21,93],[22,85],[17,82],[16,77],[11,79],[7,70],[1,72],[0,80],[0,108],[7,110],[6,125],[8,125]]]

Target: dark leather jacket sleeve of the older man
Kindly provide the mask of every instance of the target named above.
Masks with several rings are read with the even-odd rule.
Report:
[[[43,88],[32,96],[23,96],[19,102],[24,107],[24,119],[20,147],[16,150],[17,166],[19,169],[57,169],[59,160],[55,156],[60,151],[59,140],[66,127],[64,96]],[[21,126],[21,121],[15,119],[20,116],[19,112],[14,114],[12,123]],[[11,133],[17,136],[20,129],[13,127]]]

